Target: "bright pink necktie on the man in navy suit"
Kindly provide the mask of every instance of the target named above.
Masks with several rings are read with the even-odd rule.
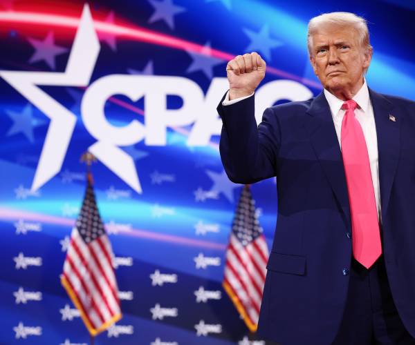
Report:
[[[366,268],[382,254],[378,212],[369,155],[362,127],[355,117],[357,103],[349,99],[342,121],[342,157],[351,213],[353,256]]]

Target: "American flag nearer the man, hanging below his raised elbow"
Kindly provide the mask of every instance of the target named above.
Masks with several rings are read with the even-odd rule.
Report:
[[[255,213],[249,186],[239,198],[226,250],[223,288],[251,332],[257,331],[268,246]]]

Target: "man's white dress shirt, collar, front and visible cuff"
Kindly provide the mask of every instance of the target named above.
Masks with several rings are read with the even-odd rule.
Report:
[[[252,93],[253,95],[253,93]],[[222,102],[223,106],[230,106],[231,104],[242,101],[248,97],[240,97],[237,99],[229,100],[229,91],[225,96],[225,99]],[[342,120],[344,117],[345,110],[342,110],[342,105],[344,101],[338,99],[332,95],[329,91],[324,89],[324,96],[329,103],[331,110],[331,117],[333,117],[333,123],[335,128],[335,133],[338,137],[340,150],[342,148]],[[378,218],[380,218],[380,186],[379,186],[379,165],[378,165],[378,137],[376,136],[376,124],[374,117],[374,109],[371,105],[371,100],[369,97],[369,89],[367,88],[366,81],[363,83],[362,88],[356,93],[353,97],[353,101],[358,103],[358,108],[355,109],[356,119],[359,121],[360,126],[362,126],[363,135],[365,136],[367,153],[369,155],[370,170],[372,183],[374,184],[374,192],[376,199],[376,206],[378,208]]]

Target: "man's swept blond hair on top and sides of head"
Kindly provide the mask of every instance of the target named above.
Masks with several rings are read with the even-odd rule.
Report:
[[[307,33],[307,47],[308,54],[312,55],[312,36],[318,31],[320,26],[327,24],[337,26],[351,26],[356,32],[358,32],[358,41],[360,47],[371,51],[373,48],[369,41],[369,30],[367,29],[367,21],[363,17],[359,17],[354,13],[350,12],[331,12],[320,14],[320,16],[311,18],[308,22],[308,33]]]

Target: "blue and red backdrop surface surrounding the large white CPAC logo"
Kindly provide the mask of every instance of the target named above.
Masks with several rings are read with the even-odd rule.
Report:
[[[84,1],[1,0],[0,70],[64,72],[83,6]],[[322,12],[344,10],[369,21],[374,46],[369,87],[415,100],[415,6],[407,1],[352,0],[340,6],[325,0],[122,0],[89,1],[89,7],[101,46],[90,83],[107,75],[181,77],[206,94],[214,77],[225,77],[228,59],[255,50],[268,64],[263,85],[291,80],[317,95],[321,87],[308,62],[306,25]],[[120,29],[129,34],[118,34]],[[62,320],[61,310],[66,304],[73,306],[59,274],[65,239],[86,185],[80,156],[95,139],[81,117],[85,88],[41,88],[73,112],[77,122],[61,170],[30,193],[49,119],[0,79],[0,343],[88,343],[80,317]],[[181,106],[180,97],[167,97],[167,108]],[[206,107],[201,103],[201,113],[216,114],[214,106]],[[114,95],[106,103],[105,115],[113,126],[127,126],[133,120],[144,123],[145,100]],[[193,127],[167,128],[165,145],[141,140],[122,147],[134,161],[141,194],[100,161],[93,165],[98,206],[119,258],[118,285],[133,297],[122,300],[124,317],[118,322],[133,334],[120,331],[116,337],[104,332],[95,344],[157,344],[158,338],[161,344],[254,344],[245,338],[248,330],[221,287],[241,186],[225,177],[218,135],[203,146],[187,144]],[[270,244],[277,209],[275,181],[252,186],[252,194]],[[17,269],[19,253],[42,258],[42,266]],[[200,253],[221,258],[221,265],[196,268],[194,258]],[[155,270],[176,274],[177,283],[152,286],[150,275]],[[221,299],[196,302],[194,291],[200,286],[221,290]],[[42,293],[42,300],[17,304],[19,288]],[[150,309],[156,304],[177,308],[177,317],[152,319]],[[222,332],[197,336],[194,326],[201,319],[220,324]],[[17,339],[19,323],[41,327],[42,335]]]

